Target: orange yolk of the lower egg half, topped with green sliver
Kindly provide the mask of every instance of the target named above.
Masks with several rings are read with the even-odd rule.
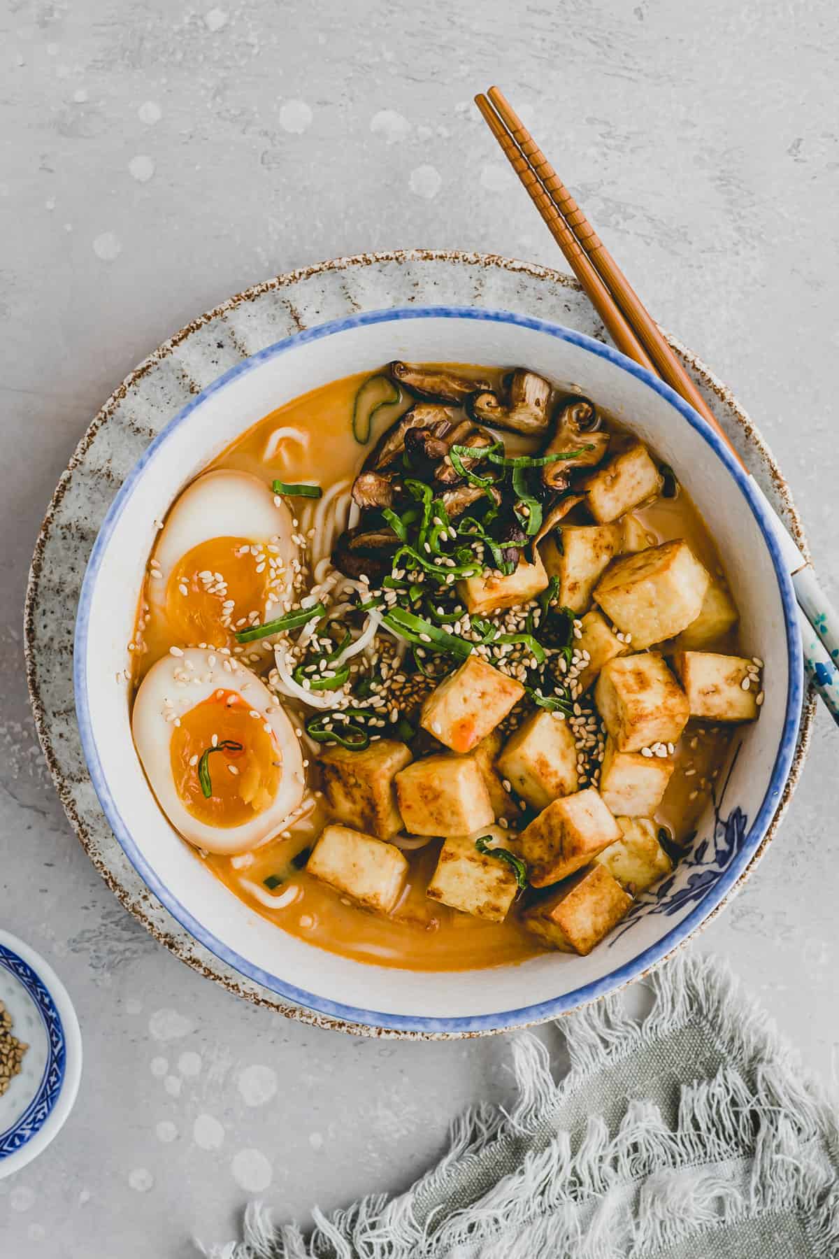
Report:
[[[282,759],[263,714],[236,691],[215,691],[181,715],[170,759],[184,807],[208,826],[252,822],[274,799]],[[204,765],[204,774],[201,774]],[[210,794],[204,793],[204,786]]]

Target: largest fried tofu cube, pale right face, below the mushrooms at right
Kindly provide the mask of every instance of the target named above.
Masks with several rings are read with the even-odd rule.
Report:
[[[616,559],[595,601],[635,648],[663,642],[699,616],[711,578],[682,538]]]

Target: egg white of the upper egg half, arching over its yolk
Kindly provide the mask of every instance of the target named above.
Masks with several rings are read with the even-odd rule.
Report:
[[[284,608],[292,587],[291,562],[298,551],[292,519],[287,505],[277,505],[270,487],[259,477],[233,468],[205,472],[184,490],[166,517],[151,556],[161,575],[148,582],[150,602],[165,607],[172,569],[200,543],[245,538],[252,544],[267,544],[275,539],[284,574],[260,609],[260,619],[270,621]]]

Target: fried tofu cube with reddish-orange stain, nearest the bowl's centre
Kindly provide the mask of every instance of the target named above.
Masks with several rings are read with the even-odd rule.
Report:
[[[472,655],[431,691],[423,704],[420,725],[453,752],[472,752],[523,694],[514,677]]]

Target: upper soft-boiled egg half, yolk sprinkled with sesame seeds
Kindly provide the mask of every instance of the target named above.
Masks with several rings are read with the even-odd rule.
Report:
[[[221,647],[286,609],[292,514],[249,472],[205,472],[170,511],[150,560],[148,602],[184,643]]]

